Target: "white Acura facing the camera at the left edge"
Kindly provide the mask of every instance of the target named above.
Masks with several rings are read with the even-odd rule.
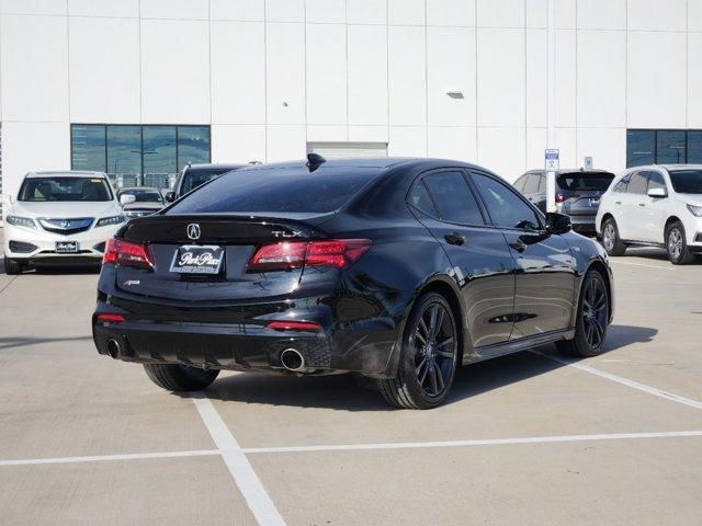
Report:
[[[105,241],[126,221],[101,172],[31,172],[8,203],[8,274],[19,274],[25,265],[99,264]]]

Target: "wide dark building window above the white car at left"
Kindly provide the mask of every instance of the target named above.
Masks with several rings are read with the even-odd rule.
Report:
[[[71,125],[71,168],[120,185],[169,186],[185,164],[210,162],[210,126]]]

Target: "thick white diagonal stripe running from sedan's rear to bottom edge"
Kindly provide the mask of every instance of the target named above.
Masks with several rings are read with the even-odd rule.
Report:
[[[229,469],[229,473],[239,487],[251,513],[262,526],[285,525],[285,521],[275,508],[273,501],[263,488],[256,471],[246,458],[239,443],[234,437],[212,401],[201,391],[191,392],[195,408],[205,423],[212,439],[222,453],[222,458]]]

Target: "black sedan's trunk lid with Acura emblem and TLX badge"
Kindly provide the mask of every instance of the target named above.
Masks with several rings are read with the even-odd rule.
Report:
[[[302,267],[250,272],[248,263],[258,248],[284,241],[305,241],[330,214],[247,214],[228,216],[148,216],[129,222],[123,238],[144,243],[154,270],[118,266],[116,287],[129,294],[183,301],[236,301],[290,294],[298,285]],[[189,226],[199,232],[189,237]],[[199,233],[192,239],[193,233]],[[180,247],[222,248],[219,273],[184,274],[173,270]]]

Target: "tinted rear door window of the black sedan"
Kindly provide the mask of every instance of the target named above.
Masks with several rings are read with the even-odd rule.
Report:
[[[461,172],[438,172],[424,178],[439,216],[444,221],[484,225],[478,204]]]

